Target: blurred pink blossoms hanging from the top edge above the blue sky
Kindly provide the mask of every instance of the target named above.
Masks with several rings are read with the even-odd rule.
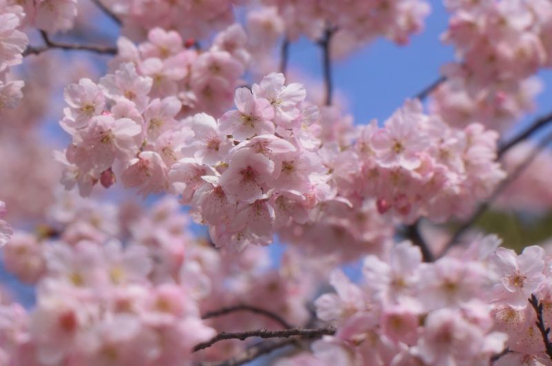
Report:
[[[346,39],[357,43],[383,36],[399,44],[422,29],[429,13],[428,3],[421,0],[388,1],[323,1],[323,0],[264,0],[276,6],[284,20],[286,35],[295,40],[305,34],[322,39],[327,26],[336,28]]]

